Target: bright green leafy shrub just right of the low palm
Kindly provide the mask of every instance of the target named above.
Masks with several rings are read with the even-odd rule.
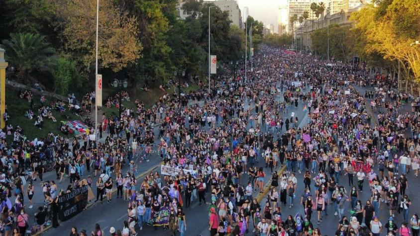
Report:
[[[76,62],[66,58],[59,58],[52,73],[54,77],[55,92],[66,96],[69,88],[81,88],[82,77],[80,76]]]

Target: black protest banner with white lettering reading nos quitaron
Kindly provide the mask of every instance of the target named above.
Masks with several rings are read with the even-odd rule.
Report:
[[[89,186],[76,188],[58,197],[58,219],[67,221],[81,213],[88,205]]]

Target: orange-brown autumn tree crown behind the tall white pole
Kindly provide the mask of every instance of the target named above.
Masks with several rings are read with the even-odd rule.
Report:
[[[95,68],[96,13],[95,0],[72,0],[57,11],[63,19],[65,51],[83,65],[86,72]],[[120,11],[112,1],[101,1],[99,9],[99,52],[101,67],[118,72],[140,57],[136,18]]]

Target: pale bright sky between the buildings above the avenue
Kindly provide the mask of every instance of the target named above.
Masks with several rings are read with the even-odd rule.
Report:
[[[248,6],[249,15],[255,20],[262,21],[265,26],[274,24],[277,32],[277,19],[279,5],[286,4],[287,0],[236,0],[241,9],[242,17],[244,7]]]

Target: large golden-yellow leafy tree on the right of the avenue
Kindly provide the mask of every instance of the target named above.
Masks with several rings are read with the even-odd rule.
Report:
[[[413,44],[420,37],[420,2],[417,0],[383,0],[351,15],[359,41],[367,54],[380,54],[397,61],[407,70],[407,83],[414,77],[420,82],[420,47]]]

